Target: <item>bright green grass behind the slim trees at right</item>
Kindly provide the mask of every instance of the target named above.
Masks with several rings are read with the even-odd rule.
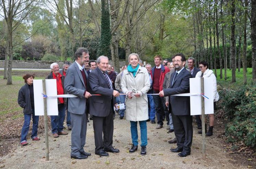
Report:
[[[214,71],[214,70],[213,70]],[[232,71],[227,70],[227,80],[224,79],[224,69],[222,70],[222,79],[220,79],[220,70],[217,69],[217,83],[223,87],[223,88],[231,88],[231,89],[238,89],[241,87],[245,87],[246,85],[251,86],[252,85],[252,68],[247,68],[247,84],[245,85],[243,83],[243,68],[241,68],[241,71],[238,72],[238,69],[236,69],[236,82],[232,81]]]

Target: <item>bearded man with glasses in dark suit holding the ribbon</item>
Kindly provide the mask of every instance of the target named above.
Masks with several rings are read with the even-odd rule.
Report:
[[[172,60],[175,71],[171,75],[170,87],[159,92],[161,97],[190,92],[190,72],[185,69],[186,58],[182,53],[176,54]],[[192,116],[190,116],[190,97],[170,96],[174,134],[177,139],[177,148],[171,152],[181,152],[178,155],[190,155],[193,137]]]

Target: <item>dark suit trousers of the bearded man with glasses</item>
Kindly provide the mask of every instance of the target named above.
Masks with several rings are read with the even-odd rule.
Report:
[[[185,153],[190,152],[193,138],[192,116],[177,116],[172,113],[172,121],[178,148]]]

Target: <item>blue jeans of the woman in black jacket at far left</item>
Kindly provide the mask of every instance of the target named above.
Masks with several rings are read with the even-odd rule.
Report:
[[[29,124],[31,120],[31,115],[32,115],[32,120],[33,120],[33,127],[32,127],[32,135],[31,138],[37,136],[37,128],[38,128],[38,120],[39,116],[35,116],[35,109],[32,109],[32,114],[24,114],[24,124],[21,129],[21,142],[22,141],[27,141],[27,134],[29,131]]]

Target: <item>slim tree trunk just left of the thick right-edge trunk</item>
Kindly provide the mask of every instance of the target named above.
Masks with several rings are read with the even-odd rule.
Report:
[[[243,45],[243,76],[244,76],[244,84],[247,84],[247,75],[246,75],[246,70],[247,70],[247,63],[246,63],[246,49],[247,49],[247,37],[246,37],[246,24],[247,24],[247,6],[248,6],[248,1],[244,1],[244,45]]]

